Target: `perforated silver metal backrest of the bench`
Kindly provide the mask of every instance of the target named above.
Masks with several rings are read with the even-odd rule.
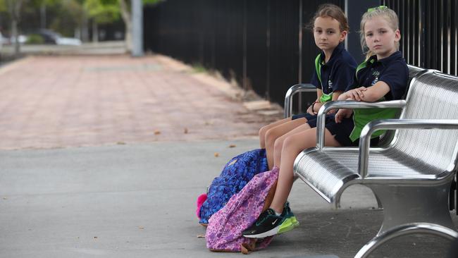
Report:
[[[427,70],[411,80],[402,119],[458,119],[458,78]],[[392,147],[423,164],[452,171],[458,130],[397,130]]]

